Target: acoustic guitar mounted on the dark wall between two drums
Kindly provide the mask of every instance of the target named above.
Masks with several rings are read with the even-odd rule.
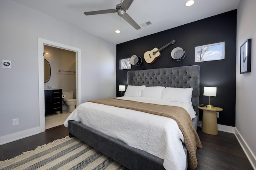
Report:
[[[164,49],[165,47],[167,47],[167,46],[170,45],[170,44],[174,44],[175,42],[176,42],[176,40],[173,39],[170,43],[164,45],[164,46],[161,47],[160,49],[158,49],[158,48],[155,47],[155,48],[152,49],[151,51],[147,51],[146,53],[144,53],[144,59],[145,59],[145,61],[146,61],[147,63],[153,63],[153,62],[156,60],[156,58],[160,57],[160,55],[161,55],[160,51],[161,51],[162,49]]]

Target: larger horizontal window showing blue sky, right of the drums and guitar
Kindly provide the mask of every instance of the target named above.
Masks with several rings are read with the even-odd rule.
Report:
[[[195,48],[195,62],[224,60],[225,42],[201,45]]]

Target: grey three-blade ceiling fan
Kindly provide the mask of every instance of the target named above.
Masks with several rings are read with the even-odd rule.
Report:
[[[133,0],[124,0],[124,2],[116,5],[116,9],[110,10],[99,10],[99,11],[90,11],[84,12],[86,16],[96,15],[96,14],[108,14],[117,12],[118,16],[124,18],[130,25],[132,25],[135,29],[140,29],[140,26],[126,13],[126,10],[131,6]]]

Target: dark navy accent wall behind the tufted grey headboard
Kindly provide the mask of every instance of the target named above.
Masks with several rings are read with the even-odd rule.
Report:
[[[142,27],[143,29],[143,27]],[[176,40],[162,51],[161,56],[148,64],[144,60],[144,53],[158,49],[168,42]],[[195,63],[195,47],[225,41],[225,59]],[[170,57],[172,49],[182,47],[186,52],[183,61],[174,61]],[[130,58],[132,55],[142,57],[140,66],[132,69],[120,70],[120,59]],[[153,68],[167,68],[176,66],[200,66],[200,103],[209,104],[209,97],[203,96],[204,86],[217,87],[217,96],[212,97],[211,104],[222,107],[218,124],[235,127],[236,104],[236,10],[212,16],[161,31],[152,35],[134,39],[116,45],[116,94],[121,96],[118,85],[126,85],[126,72],[129,70],[144,70]],[[200,114],[202,119],[202,114]]]

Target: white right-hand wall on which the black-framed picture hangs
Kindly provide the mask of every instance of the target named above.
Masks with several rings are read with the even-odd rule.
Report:
[[[241,0],[237,10],[236,46],[236,130],[242,145],[248,150],[249,160],[256,168],[256,1]],[[252,69],[240,74],[240,46],[252,39]],[[249,153],[250,152],[250,153]],[[251,155],[250,155],[251,154]]]

